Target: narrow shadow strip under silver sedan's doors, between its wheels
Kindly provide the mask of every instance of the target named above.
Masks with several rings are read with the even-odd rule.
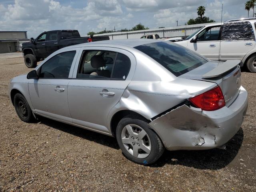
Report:
[[[93,141],[96,142],[98,144],[102,144],[114,149],[119,149],[118,143],[116,141],[116,138],[111,137],[111,136],[107,136],[104,134],[100,134],[97,132],[93,132],[90,130],[86,130],[83,128],[79,128],[76,126],[72,126],[69,124],[65,124],[62,122],[58,122],[55,120],[51,120],[48,118],[44,118],[44,117],[40,117],[40,123],[44,124],[46,126],[52,127],[54,129],[58,129],[60,131],[66,132],[68,134],[72,134],[74,136],[89,140],[89,141]]]

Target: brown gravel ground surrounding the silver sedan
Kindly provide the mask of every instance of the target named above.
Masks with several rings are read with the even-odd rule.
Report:
[[[242,72],[248,111],[226,150],[166,151],[141,166],[122,155],[115,138],[46,118],[22,122],[8,82],[30,70],[21,54],[0,54],[0,192],[256,191],[256,74]]]

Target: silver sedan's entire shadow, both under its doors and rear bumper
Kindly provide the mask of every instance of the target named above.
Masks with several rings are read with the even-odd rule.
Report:
[[[116,138],[96,133],[90,130],[79,128],[76,126],[50,120],[48,118],[40,117],[41,124],[58,129],[60,131],[78,136],[80,138],[102,144],[116,150],[120,149]],[[160,159],[150,167],[162,167],[166,164],[183,165],[194,167],[197,169],[218,170],[227,166],[237,155],[244,139],[244,132],[242,128],[238,130],[236,135],[226,144],[226,150],[211,149],[211,150],[179,150],[168,151],[165,150]],[[121,155],[121,153],[120,153]]]

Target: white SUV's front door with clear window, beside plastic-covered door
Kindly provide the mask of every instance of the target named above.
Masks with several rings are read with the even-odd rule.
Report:
[[[210,60],[218,60],[220,52],[220,26],[205,28],[196,42],[188,42],[188,48]]]

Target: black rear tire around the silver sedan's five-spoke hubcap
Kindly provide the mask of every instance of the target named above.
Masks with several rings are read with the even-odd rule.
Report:
[[[150,142],[151,142],[151,151],[147,157],[136,158],[135,156],[130,154],[128,152],[128,150],[124,147],[125,144],[123,144],[123,142],[122,142],[121,135],[122,135],[123,128],[125,126],[127,126],[128,124],[135,124],[136,126],[139,126],[146,132],[146,134],[147,134],[146,136],[149,137]],[[128,137],[130,137],[130,135]],[[162,156],[162,154],[165,150],[162,141],[160,140],[158,135],[150,128],[150,125],[147,122],[141,120],[140,118],[136,118],[136,117],[124,117],[120,120],[120,122],[118,123],[118,126],[116,128],[116,139],[117,139],[118,145],[119,145],[120,149],[122,150],[124,156],[126,156],[126,158],[128,158],[129,160],[131,160],[135,163],[138,163],[138,164],[142,164],[142,165],[153,164],[154,162],[156,162],[158,160],[158,158],[160,158],[160,156]],[[136,140],[136,142],[137,142],[137,140]],[[130,145],[130,144],[128,144],[128,145]],[[134,143],[133,143],[133,145],[134,145]],[[142,144],[140,144],[140,145],[142,145]],[[130,146],[132,147],[132,145],[130,145]]]

